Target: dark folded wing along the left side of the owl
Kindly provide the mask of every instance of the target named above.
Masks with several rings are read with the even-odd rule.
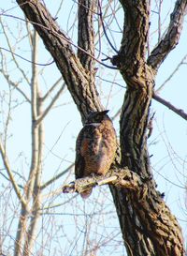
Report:
[[[76,179],[82,178],[84,176],[84,169],[85,169],[85,161],[84,158],[81,156],[81,146],[84,139],[84,130],[81,129],[79,132],[79,136],[76,142],[76,160],[75,160],[75,176]]]

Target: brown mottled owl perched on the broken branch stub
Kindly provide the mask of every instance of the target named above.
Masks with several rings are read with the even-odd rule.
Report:
[[[107,113],[108,111],[90,113],[79,132],[76,143],[76,179],[91,173],[108,173],[115,158],[117,141],[115,129]],[[81,193],[81,197],[87,198],[91,193],[92,188],[88,188]]]

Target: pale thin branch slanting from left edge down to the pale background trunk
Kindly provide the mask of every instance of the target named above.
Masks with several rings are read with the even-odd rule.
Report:
[[[11,184],[14,188],[14,191],[16,192],[16,194],[17,194],[18,198],[20,199],[21,203],[25,206],[26,205],[25,199],[23,198],[21,190],[20,190],[17,182],[14,179],[14,175],[11,171],[9,161],[8,161],[8,158],[7,158],[7,154],[5,152],[5,148],[4,148],[3,143],[2,143],[1,140],[0,140],[0,153],[1,153],[1,157],[2,157],[2,160],[4,162],[4,165],[5,165],[5,168],[7,170],[9,180],[11,181]]]

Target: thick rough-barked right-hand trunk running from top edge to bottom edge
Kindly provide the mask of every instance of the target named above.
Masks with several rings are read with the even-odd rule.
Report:
[[[122,166],[128,166],[138,173],[145,180],[149,191],[139,201],[134,192],[110,188],[129,255],[131,251],[133,255],[183,255],[179,224],[156,191],[147,150],[146,129],[156,73],[156,69],[148,65],[145,58],[150,7],[147,1],[121,3],[126,14],[122,47],[119,55],[113,58],[113,63],[120,68],[128,85],[121,114]],[[177,37],[179,39],[179,34]],[[167,48],[167,53],[171,49]],[[157,51],[164,53],[165,49],[161,45]],[[151,56],[154,53],[155,50]],[[157,68],[157,65],[154,67]]]

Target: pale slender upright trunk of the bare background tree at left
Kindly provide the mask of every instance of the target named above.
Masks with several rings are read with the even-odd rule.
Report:
[[[31,170],[29,176],[29,186],[28,186],[28,198],[30,196],[33,197],[33,205],[32,205],[32,217],[29,223],[29,227],[26,233],[26,238],[24,241],[23,251],[25,251],[25,255],[31,255],[31,251],[33,250],[34,243],[36,240],[36,226],[40,217],[39,209],[41,207],[41,175],[42,175],[42,160],[43,160],[43,145],[44,145],[44,131],[43,131],[43,122],[40,122],[38,126],[36,126],[37,116],[40,116],[42,113],[42,100],[40,97],[40,91],[38,87],[38,73],[36,67],[36,60],[38,54],[38,35],[36,30],[33,35],[33,51],[32,51],[32,59],[34,61],[32,65],[32,139],[33,139],[33,147],[32,147],[32,160]],[[36,141],[37,140],[37,141]],[[29,198],[30,199],[30,198]]]

